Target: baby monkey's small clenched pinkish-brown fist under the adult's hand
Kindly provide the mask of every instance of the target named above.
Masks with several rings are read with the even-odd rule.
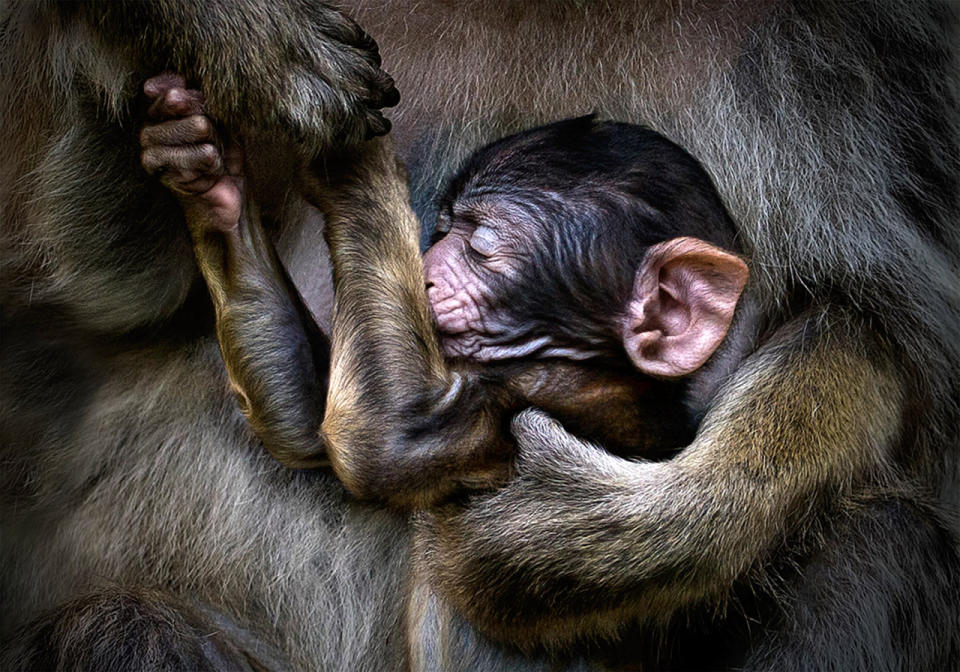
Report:
[[[141,162],[180,200],[191,230],[237,226],[243,195],[243,154],[231,143],[222,152],[200,91],[183,77],[163,74],[144,84],[151,101],[140,133]]]

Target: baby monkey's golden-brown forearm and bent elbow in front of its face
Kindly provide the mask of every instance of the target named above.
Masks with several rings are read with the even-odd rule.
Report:
[[[506,468],[510,400],[448,369],[429,314],[419,222],[387,140],[313,166],[306,191],[326,218],[334,269],[323,437],[360,497],[426,506]]]

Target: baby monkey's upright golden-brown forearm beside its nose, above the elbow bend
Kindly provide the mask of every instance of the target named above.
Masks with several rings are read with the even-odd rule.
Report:
[[[406,185],[387,174],[354,188],[364,193],[324,213],[336,292],[331,375],[363,371],[360,391],[375,395],[381,412],[402,411],[442,397],[453,380],[430,319]]]

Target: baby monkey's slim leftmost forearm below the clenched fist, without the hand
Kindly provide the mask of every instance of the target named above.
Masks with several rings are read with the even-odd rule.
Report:
[[[238,226],[226,231],[204,228],[189,208],[187,215],[244,414],[284,464],[325,463],[319,428],[329,345],[287,279],[256,208],[246,204]]]

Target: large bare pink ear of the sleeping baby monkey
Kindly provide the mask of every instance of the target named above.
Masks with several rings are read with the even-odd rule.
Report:
[[[697,238],[647,250],[623,325],[637,370],[677,378],[700,368],[727,335],[748,276],[742,259]]]

